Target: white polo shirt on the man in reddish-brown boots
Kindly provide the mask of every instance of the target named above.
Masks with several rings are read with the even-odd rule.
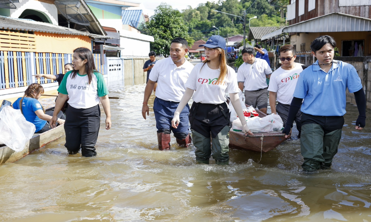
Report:
[[[150,80],[157,81],[156,97],[180,102],[185,92],[185,82],[193,67],[187,60],[180,67],[177,67],[170,57],[158,60],[149,77]]]

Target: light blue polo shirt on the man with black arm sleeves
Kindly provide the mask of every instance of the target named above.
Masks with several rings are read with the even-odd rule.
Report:
[[[336,62],[336,60],[333,60]],[[347,102],[345,92],[362,89],[357,70],[348,63],[339,61],[325,73],[318,60],[302,71],[293,96],[304,99],[301,111],[317,116],[343,116]]]

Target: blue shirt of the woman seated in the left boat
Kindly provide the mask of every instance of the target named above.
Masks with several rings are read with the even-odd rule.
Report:
[[[19,110],[19,102],[22,99],[22,97],[18,98],[14,103],[13,103],[13,108],[16,110]],[[33,123],[36,127],[36,131],[39,131],[42,129],[45,124],[46,120],[40,119],[35,111],[36,110],[42,110],[42,106],[39,101],[37,101],[34,98],[29,98],[29,97],[24,97],[22,101],[22,111],[23,111],[23,116],[26,118],[27,121]]]

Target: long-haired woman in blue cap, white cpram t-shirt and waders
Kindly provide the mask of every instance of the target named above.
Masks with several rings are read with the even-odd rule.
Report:
[[[227,65],[224,48],[226,41],[221,36],[211,36],[205,47],[206,60],[197,64],[191,71],[185,83],[185,93],[174,113],[171,124],[177,128],[179,114],[193,95],[193,104],[190,110],[192,140],[196,147],[196,161],[209,164],[212,153],[216,164],[229,163],[230,114],[226,104],[226,91],[230,101],[239,116],[243,132],[252,134],[246,124],[239,100],[237,75]],[[194,92],[196,90],[196,92]],[[194,94],[193,94],[194,92]],[[213,145],[210,142],[213,138]]]

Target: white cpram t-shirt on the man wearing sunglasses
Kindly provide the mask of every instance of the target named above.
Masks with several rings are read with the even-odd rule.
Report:
[[[270,76],[268,91],[277,92],[277,101],[290,105],[299,74],[302,71],[301,63],[296,63],[292,70],[284,70],[282,66],[279,67]]]

